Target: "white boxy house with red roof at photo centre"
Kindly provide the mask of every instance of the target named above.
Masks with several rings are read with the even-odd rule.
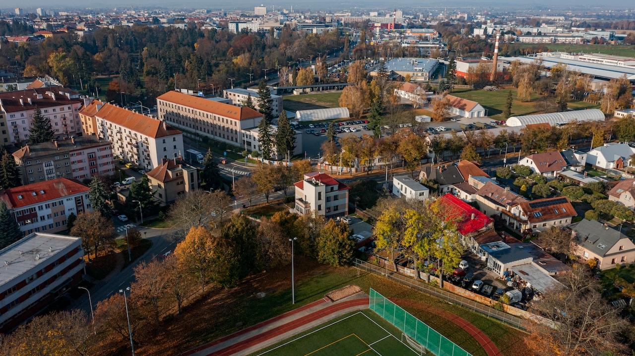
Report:
[[[348,215],[349,186],[328,174],[311,172],[295,186],[295,212],[327,218]]]

